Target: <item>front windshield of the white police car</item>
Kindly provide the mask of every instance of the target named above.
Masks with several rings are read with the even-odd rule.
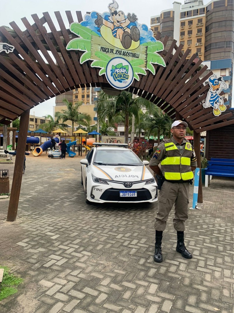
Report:
[[[94,156],[94,164],[99,165],[133,165],[142,166],[139,158],[130,150],[106,149],[97,150]]]

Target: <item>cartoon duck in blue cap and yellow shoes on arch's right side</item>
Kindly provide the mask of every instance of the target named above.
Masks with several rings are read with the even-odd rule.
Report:
[[[212,106],[214,115],[221,115],[221,112],[226,111],[222,97],[219,95],[222,89],[227,89],[227,85],[223,81],[222,76],[217,78],[216,75],[209,77],[210,90],[207,93],[206,101],[203,103],[204,108]]]

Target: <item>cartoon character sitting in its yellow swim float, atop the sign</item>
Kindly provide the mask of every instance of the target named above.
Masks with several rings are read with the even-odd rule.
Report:
[[[136,49],[140,44],[140,31],[136,26],[133,25],[129,28],[128,25],[131,22],[136,22],[137,17],[134,13],[132,15],[129,13],[128,17],[125,18],[124,12],[117,11],[118,8],[118,3],[113,1],[109,5],[109,21],[97,13],[95,24],[100,28],[102,37],[114,47],[129,50]]]

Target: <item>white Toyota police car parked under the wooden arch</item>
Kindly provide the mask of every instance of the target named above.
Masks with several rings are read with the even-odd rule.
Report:
[[[94,143],[81,163],[86,203],[157,201],[154,177],[127,144]]]

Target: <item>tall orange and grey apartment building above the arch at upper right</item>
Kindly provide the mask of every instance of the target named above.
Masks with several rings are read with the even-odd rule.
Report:
[[[228,99],[225,104],[232,104],[234,0],[210,1],[206,5],[203,0],[173,2],[173,8],[151,17],[151,29],[154,36],[158,31],[161,33],[160,40],[169,37],[165,49],[176,39],[183,44],[182,52],[191,50],[188,58],[196,54],[206,61],[202,64],[225,80],[228,86],[223,96]]]

